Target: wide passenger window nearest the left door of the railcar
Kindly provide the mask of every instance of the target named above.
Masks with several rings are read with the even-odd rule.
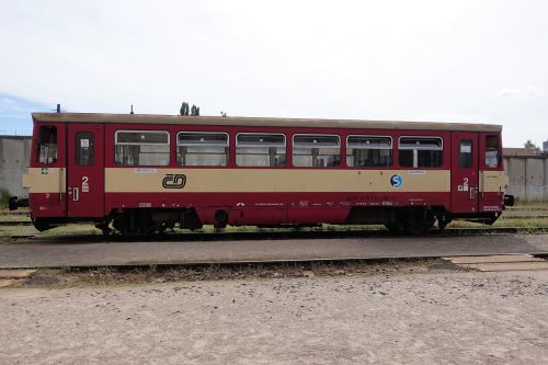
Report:
[[[114,162],[122,166],[167,166],[170,137],[165,130],[117,130]]]

